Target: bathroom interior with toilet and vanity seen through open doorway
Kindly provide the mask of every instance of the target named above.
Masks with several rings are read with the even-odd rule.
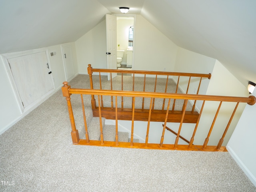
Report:
[[[132,70],[134,17],[118,16],[116,20],[117,68]]]

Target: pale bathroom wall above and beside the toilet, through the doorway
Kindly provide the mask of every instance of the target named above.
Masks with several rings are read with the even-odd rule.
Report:
[[[117,17],[116,22],[116,43],[119,44],[119,48],[117,49],[124,50],[124,57],[122,59],[121,64],[127,63],[127,47],[128,47],[128,36],[129,36],[129,28],[130,26],[134,26],[134,18],[133,17]]]

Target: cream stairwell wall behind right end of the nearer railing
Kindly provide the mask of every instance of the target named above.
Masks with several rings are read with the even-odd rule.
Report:
[[[216,63],[214,65],[214,69],[212,71],[212,78],[209,82],[206,95],[242,97],[249,96],[246,87],[240,81],[238,81],[218,60],[216,60]],[[220,102],[205,102],[204,110],[195,137],[195,140],[197,139],[199,141],[198,144],[204,143],[204,139],[207,137],[207,134],[209,132],[210,126],[212,125],[212,121],[214,119],[219,104]],[[236,103],[234,102],[222,103],[220,112],[218,114],[218,117],[213,127],[212,134],[210,136],[210,140],[208,142],[209,145],[218,144],[218,140],[220,140],[220,138],[222,137],[222,134],[228,124],[228,121],[235,106]],[[244,103],[240,103],[238,105],[238,109],[236,110],[236,113],[234,115],[232,123],[230,124],[230,127],[228,129],[228,132],[224,138],[224,142],[222,145],[226,146],[245,106],[246,104]]]

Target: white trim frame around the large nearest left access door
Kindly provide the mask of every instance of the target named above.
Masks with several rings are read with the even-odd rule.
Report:
[[[47,58],[48,66],[49,66],[49,69],[51,70],[51,64],[50,64],[50,59],[49,59],[50,56],[49,56],[47,48],[39,48],[39,49],[34,49],[34,50],[26,50],[26,51],[21,51],[21,52],[13,52],[13,53],[2,54],[2,58],[3,58],[4,64],[5,64],[5,68],[6,68],[6,71],[8,72],[8,76],[9,76],[10,82],[12,84],[12,88],[14,90],[16,100],[19,104],[20,112],[22,114],[24,114],[25,112],[28,112],[29,110],[34,109],[34,107],[37,104],[40,104],[40,102],[43,102],[52,92],[54,92],[54,90],[55,90],[54,79],[53,79],[53,76],[51,74],[51,80],[52,80],[52,85],[53,85],[52,90],[50,90],[47,94],[45,94],[44,97],[39,98],[38,100],[32,102],[30,105],[28,105],[26,108],[24,108],[23,104],[22,104],[22,100],[21,100],[19,92],[18,92],[18,88],[16,86],[14,77],[12,75],[12,70],[10,68],[8,59],[15,58],[15,57],[20,57],[20,56],[25,56],[25,55],[29,55],[29,54],[35,54],[35,53],[39,53],[39,52],[46,52],[46,58]]]

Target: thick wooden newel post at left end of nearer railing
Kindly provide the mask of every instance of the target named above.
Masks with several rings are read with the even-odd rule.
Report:
[[[73,144],[78,144],[79,142],[79,134],[78,134],[78,130],[76,129],[76,124],[75,124],[75,119],[74,119],[74,115],[73,115],[73,110],[72,110],[72,106],[71,106],[71,102],[70,102],[70,93],[68,92],[68,89],[70,88],[70,86],[68,85],[68,82],[63,82],[64,86],[62,86],[62,94],[64,97],[66,97],[67,100],[67,104],[68,104],[68,114],[69,114],[69,118],[70,118],[70,124],[71,124],[71,137],[72,137],[72,141]]]

